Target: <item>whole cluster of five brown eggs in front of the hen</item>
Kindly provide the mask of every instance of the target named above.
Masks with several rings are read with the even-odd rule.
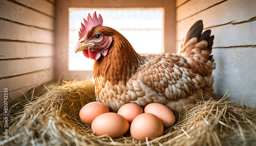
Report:
[[[91,125],[96,135],[109,134],[117,138],[125,134],[129,128],[136,140],[148,140],[163,134],[163,128],[175,123],[174,113],[166,106],[151,103],[143,109],[133,103],[123,105],[117,113],[109,112],[109,108],[100,102],[92,102],[83,106],[80,119]],[[131,126],[129,125],[131,124]]]

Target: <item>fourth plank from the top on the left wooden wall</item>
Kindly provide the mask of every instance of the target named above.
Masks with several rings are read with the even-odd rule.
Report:
[[[51,44],[0,41],[0,59],[52,57],[53,51]]]

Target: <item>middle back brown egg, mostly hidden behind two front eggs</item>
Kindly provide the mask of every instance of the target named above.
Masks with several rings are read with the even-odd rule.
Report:
[[[142,107],[137,104],[127,103],[121,106],[117,112],[131,124],[133,119],[143,113]]]

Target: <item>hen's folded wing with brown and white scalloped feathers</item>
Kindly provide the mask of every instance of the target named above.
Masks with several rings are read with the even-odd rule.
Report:
[[[205,85],[203,77],[176,54],[150,56],[140,67],[138,79],[168,100],[186,98]]]

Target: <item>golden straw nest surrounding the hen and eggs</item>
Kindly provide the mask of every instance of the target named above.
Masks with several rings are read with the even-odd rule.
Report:
[[[9,138],[0,145],[256,145],[256,110],[223,99],[198,101],[176,115],[175,125],[161,137],[136,141],[129,132],[116,139],[96,136],[81,122],[81,107],[95,101],[92,81],[51,88],[39,97],[33,89],[9,108]],[[3,114],[1,118],[4,131]]]

